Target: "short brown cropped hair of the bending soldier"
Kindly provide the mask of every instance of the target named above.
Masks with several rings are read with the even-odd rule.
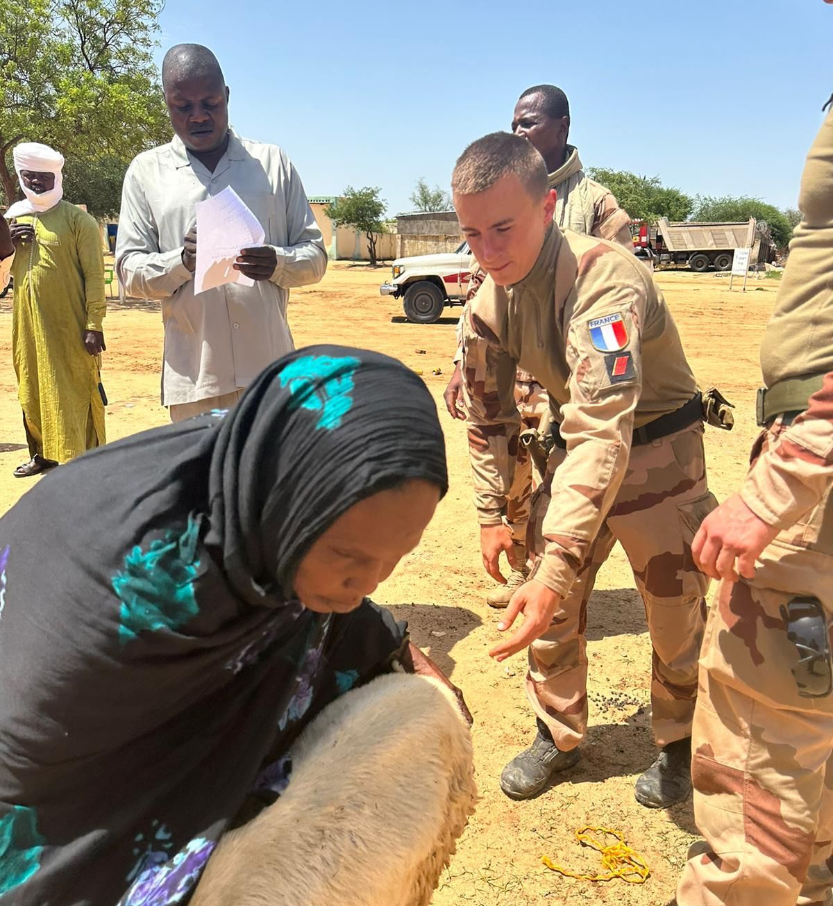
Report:
[[[546,194],[547,165],[531,142],[510,132],[492,132],[473,141],[457,158],[451,188],[460,195],[474,195],[509,175],[521,180],[531,198]]]

